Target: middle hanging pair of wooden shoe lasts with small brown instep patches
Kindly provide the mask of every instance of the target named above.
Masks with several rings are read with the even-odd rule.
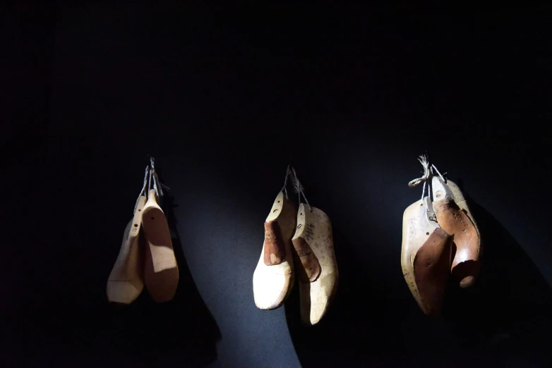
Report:
[[[317,324],[337,290],[332,223],[316,207],[294,203],[278,193],[265,221],[265,242],[253,273],[253,295],[260,309],[280,307],[299,275],[301,320]]]

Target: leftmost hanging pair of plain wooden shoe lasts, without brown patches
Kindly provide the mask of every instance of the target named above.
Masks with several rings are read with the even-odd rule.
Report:
[[[143,235],[140,233],[143,232]],[[107,281],[109,302],[130,304],[145,288],[156,302],[172,300],[179,282],[169,225],[154,189],[138,197]]]

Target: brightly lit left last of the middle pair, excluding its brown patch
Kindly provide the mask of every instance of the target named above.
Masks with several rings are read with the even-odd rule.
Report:
[[[293,202],[278,193],[265,222],[277,221],[285,247],[285,259],[280,264],[265,264],[265,247],[253,272],[253,298],[260,309],[280,307],[288,297],[294,283],[294,264],[292,255],[292,235],[295,229],[296,208]]]

